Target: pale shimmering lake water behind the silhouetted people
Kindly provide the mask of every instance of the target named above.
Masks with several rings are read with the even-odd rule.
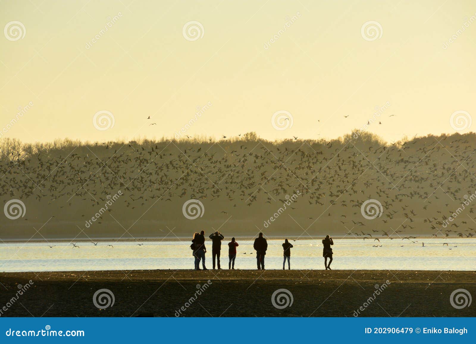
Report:
[[[333,269],[375,270],[475,270],[476,238],[380,239],[380,243],[357,239],[334,241]],[[422,241],[425,247],[422,247]],[[253,241],[237,240],[235,269],[256,269]],[[282,269],[283,240],[268,239],[267,269]],[[291,242],[292,269],[323,269],[322,243]],[[448,243],[448,246],[443,243]],[[143,245],[138,245],[143,244]],[[49,245],[54,246],[52,248]],[[192,269],[190,241],[77,243],[2,243],[0,271],[85,271],[136,269]],[[110,247],[108,245],[113,245]],[[207,241],[206,265],[212,268],[211,242]],[[381,245],[381,247],[373,247]],[[402,247],[403,245],[403,247]],[[228,241],[223,242],[221,267],[228,268]],[[201,267],[201,266],[200,266]]]

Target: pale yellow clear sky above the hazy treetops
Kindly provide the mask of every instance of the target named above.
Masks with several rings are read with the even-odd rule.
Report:
[[[470,0],[2,0],[0,24],[1,138],[474,130]]]

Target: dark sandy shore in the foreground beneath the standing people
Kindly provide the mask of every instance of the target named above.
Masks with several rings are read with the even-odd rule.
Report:
[[[11,302],[30,280],[30,289]],[[456,309],[450,304],[456,289],[476,295],[475,271],[29,272],[0,273],[0,283],[0,308],[8,308],[1,316],[173,317],[181,309],[182,316],[353,316],[361,306],[359,316],[476,316],[475,305]],[[98,309],[93,295],[103,288],[115,301]],[[278,309],[271,297],[283,288],[293,303]],[[203,290],[201,295],[197,290]],[[369,297],[375,298],[369,302]]]

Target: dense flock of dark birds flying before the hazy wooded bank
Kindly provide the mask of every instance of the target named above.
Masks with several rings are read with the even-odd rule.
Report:
[[[108,200],[105,195],[122,190],[120,212],[135,218],[155,202],[183,204],[188,199],[214,204],[207,209],[215,209],[217,216],[239,208],[246,216],[247,207],[254,206],[268,214],[267,209],[279,208],[299,191],[289,210],[291,215],[296,211],[292,216],[298,221],[364,241],[388,237],[415,244],[418,236],[476,235],[476,205],[450,218],[466,200],[464,195],[476,191],[471,173],[475,142],[474,135],[429,136],[390,145],[352,136],[342,141],[294,137],[279,144],[238,138],[104,142],[72,152],[12,151],[0,164],[0,190],[4,203],[35,200],[58,205],[60,212],[77,202],[97,208]],[[383,208],[373,220],[361,212],[368,199]],[[90,215],[81,214],[85,216]],[[100,224],[99,219],[94,225]],[[364,232],[364,227],[370,229]],[[413,236],[400,235],[404,232]]]

